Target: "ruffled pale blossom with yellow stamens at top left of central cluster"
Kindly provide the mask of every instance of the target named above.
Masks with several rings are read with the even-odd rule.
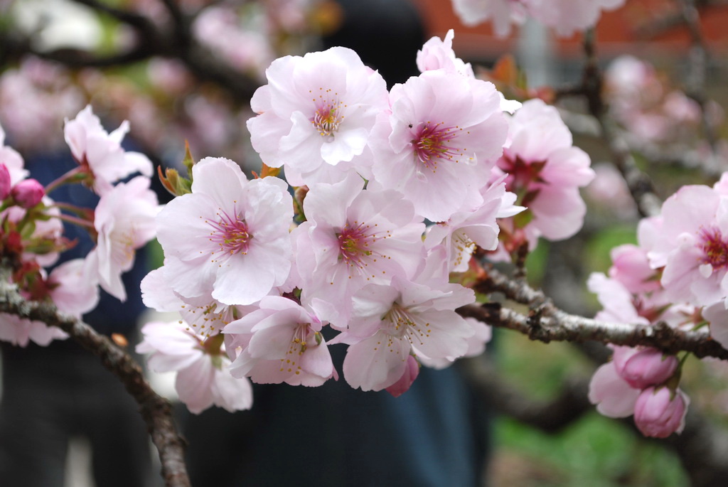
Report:
[[[266,165],[300,175],[288,175],[293,186],[318,182],[322,165],[355,164],[388,108],[384,79],[345,47],[277,59],[266,77],[250,100],[250,140]]]

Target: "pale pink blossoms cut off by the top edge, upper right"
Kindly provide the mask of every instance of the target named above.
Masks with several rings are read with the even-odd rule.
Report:
[[[456,14],[464,25],[493,22],[496,36],[505,37],[513,24],[532,17],[568,37],[596,25],[602,10],[613,10],[625,0],[453,0]]]

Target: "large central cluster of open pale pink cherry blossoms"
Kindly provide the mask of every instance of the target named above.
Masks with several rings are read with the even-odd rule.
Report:
[[[157,216],[165,262],[142,291],[181,320],[146,325],[138,350],[178,371],[191,411],[249,407],[248,378],[338,379],[336,344],[348,345],[352,387],[400,395],[420,365],[482,352],[488,327],[456,313],[475,294],[451,273],[477,265],[476,248],[498,248],[496,219],[521,213],[519,197],[533,214],[517,228],[534,239],[581,225],[578,186],[593,173],[558,113],[505,100],[455,57],[452,38],[427,41],[421,74],[389,91],[344,47],[275,60],[248,120],[263,177],[210,157],[191,183],[167,174],[178,197]],[[577,210],[550,210],[560,198]],[[194,397],[181,376],[194,376]]]

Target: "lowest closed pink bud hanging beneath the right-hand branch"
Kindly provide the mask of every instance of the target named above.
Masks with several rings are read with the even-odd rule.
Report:
[[[689,400],[678,389],[674,394],[668,387],[649,387],[641,392],[635,404],[635,424],[645,436],[666,438],[685,427]]]

